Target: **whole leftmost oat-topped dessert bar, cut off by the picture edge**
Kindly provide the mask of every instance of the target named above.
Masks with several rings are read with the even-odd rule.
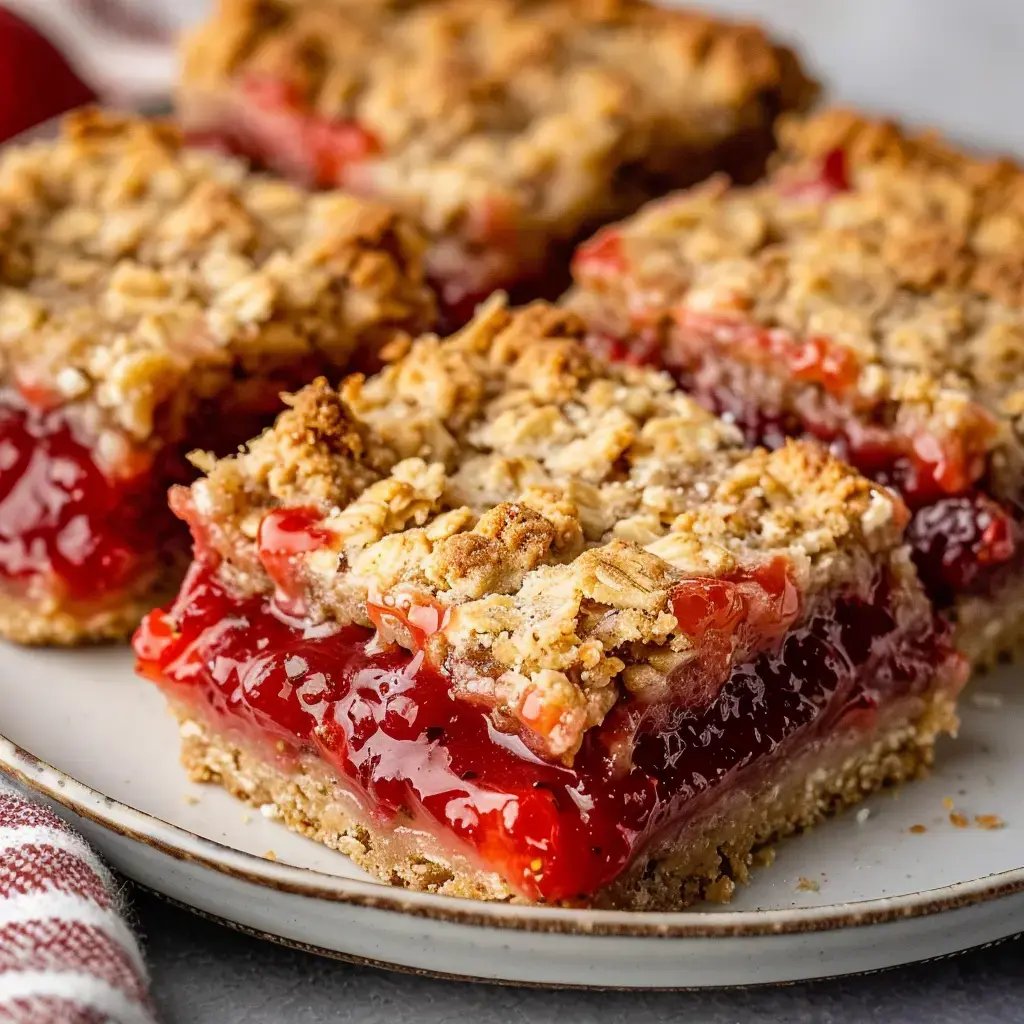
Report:
[[[127,637],[188,537],[167,487],[282,390],[431,326],[425,239],[96,111],[0,154],[0,635]]]

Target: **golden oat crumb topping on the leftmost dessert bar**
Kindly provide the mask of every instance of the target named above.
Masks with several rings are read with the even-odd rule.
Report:
[[[377,203],[249,174],[167,124],[74,114],[0,157],[0,383],[75,403],[96,434],[179,439],[232,381],[430,327],[423,251]]]

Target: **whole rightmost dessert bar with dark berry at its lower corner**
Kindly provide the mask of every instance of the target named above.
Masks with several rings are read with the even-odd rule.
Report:
[[[845,111],[780,139],[763,183],[581,247],[570,305],[752,443],[814,437],[896,487],[926,587],[989,664],[1024,638],[1024,173]]]

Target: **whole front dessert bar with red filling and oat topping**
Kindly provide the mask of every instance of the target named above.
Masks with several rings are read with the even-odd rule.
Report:
[[[193,778],[395,885],[671,908],[927,767],[964,665],[900,500],[585,331],[496,299],[202,458],[135,637]]]

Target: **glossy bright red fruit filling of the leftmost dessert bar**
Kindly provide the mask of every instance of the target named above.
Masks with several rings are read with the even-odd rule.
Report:
[[[177,524],[152,459],[126,447],[114,472],[61,410],[0,394],[0,586],[91,607],[146,571]]]

